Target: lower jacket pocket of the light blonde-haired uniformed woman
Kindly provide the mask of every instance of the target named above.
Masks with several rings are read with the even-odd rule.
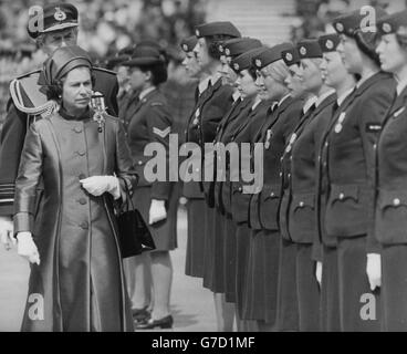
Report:
[[[260,194],[260,220],[263,228],[278,230],[278,212],[280,205],[280,185],[264,186]]]

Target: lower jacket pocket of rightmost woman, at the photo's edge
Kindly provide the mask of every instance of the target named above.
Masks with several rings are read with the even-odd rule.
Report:
[[[384,244],[407,242],[407,190],[380,190],[375,236]]]

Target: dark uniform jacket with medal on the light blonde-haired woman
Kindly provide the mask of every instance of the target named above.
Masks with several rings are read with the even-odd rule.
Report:
[[[264,144],[263,187],[250,201],[250,227],[252,229],[278,230],[281,196],[281,157],[291,133],[300,121],[303,101],[291,96],[269,111],[257,143]]]

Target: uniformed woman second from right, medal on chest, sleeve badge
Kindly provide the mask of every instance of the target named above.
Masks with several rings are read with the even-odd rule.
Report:
[[[377,17],[380,13],[376,9]],[[327,236],[337,239],[342,331],[380,329],[379,247],[372,235],[374,149],[395,81],[380,72],[375,33],[361,28],[363,23],[359,10],[334,21],[345,66],[361,80],[352,102],[334,117],[322,143],[328,183],[324,223]],[[366,314],[363,308],[366,296],[375,296],[374,314]]]

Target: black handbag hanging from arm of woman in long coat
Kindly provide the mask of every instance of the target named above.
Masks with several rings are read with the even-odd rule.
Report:
[[[127,184],[124,183],[124,185],[126,202],[117,216],[117,226],[122,258],[128,258],[155,250],[156,246],[142,214],[133,205]]]

